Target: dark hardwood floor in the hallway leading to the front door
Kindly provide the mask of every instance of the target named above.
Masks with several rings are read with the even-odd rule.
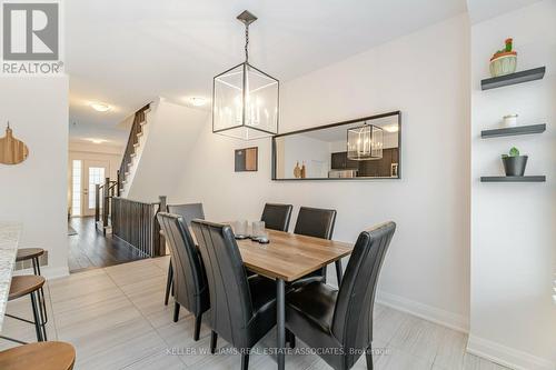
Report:
[[[103,268],[146,258],[137,249],[112,236],[95,229],[95,218],[71,218],[77,234],[69,236],[69,269],[71,272]]]

